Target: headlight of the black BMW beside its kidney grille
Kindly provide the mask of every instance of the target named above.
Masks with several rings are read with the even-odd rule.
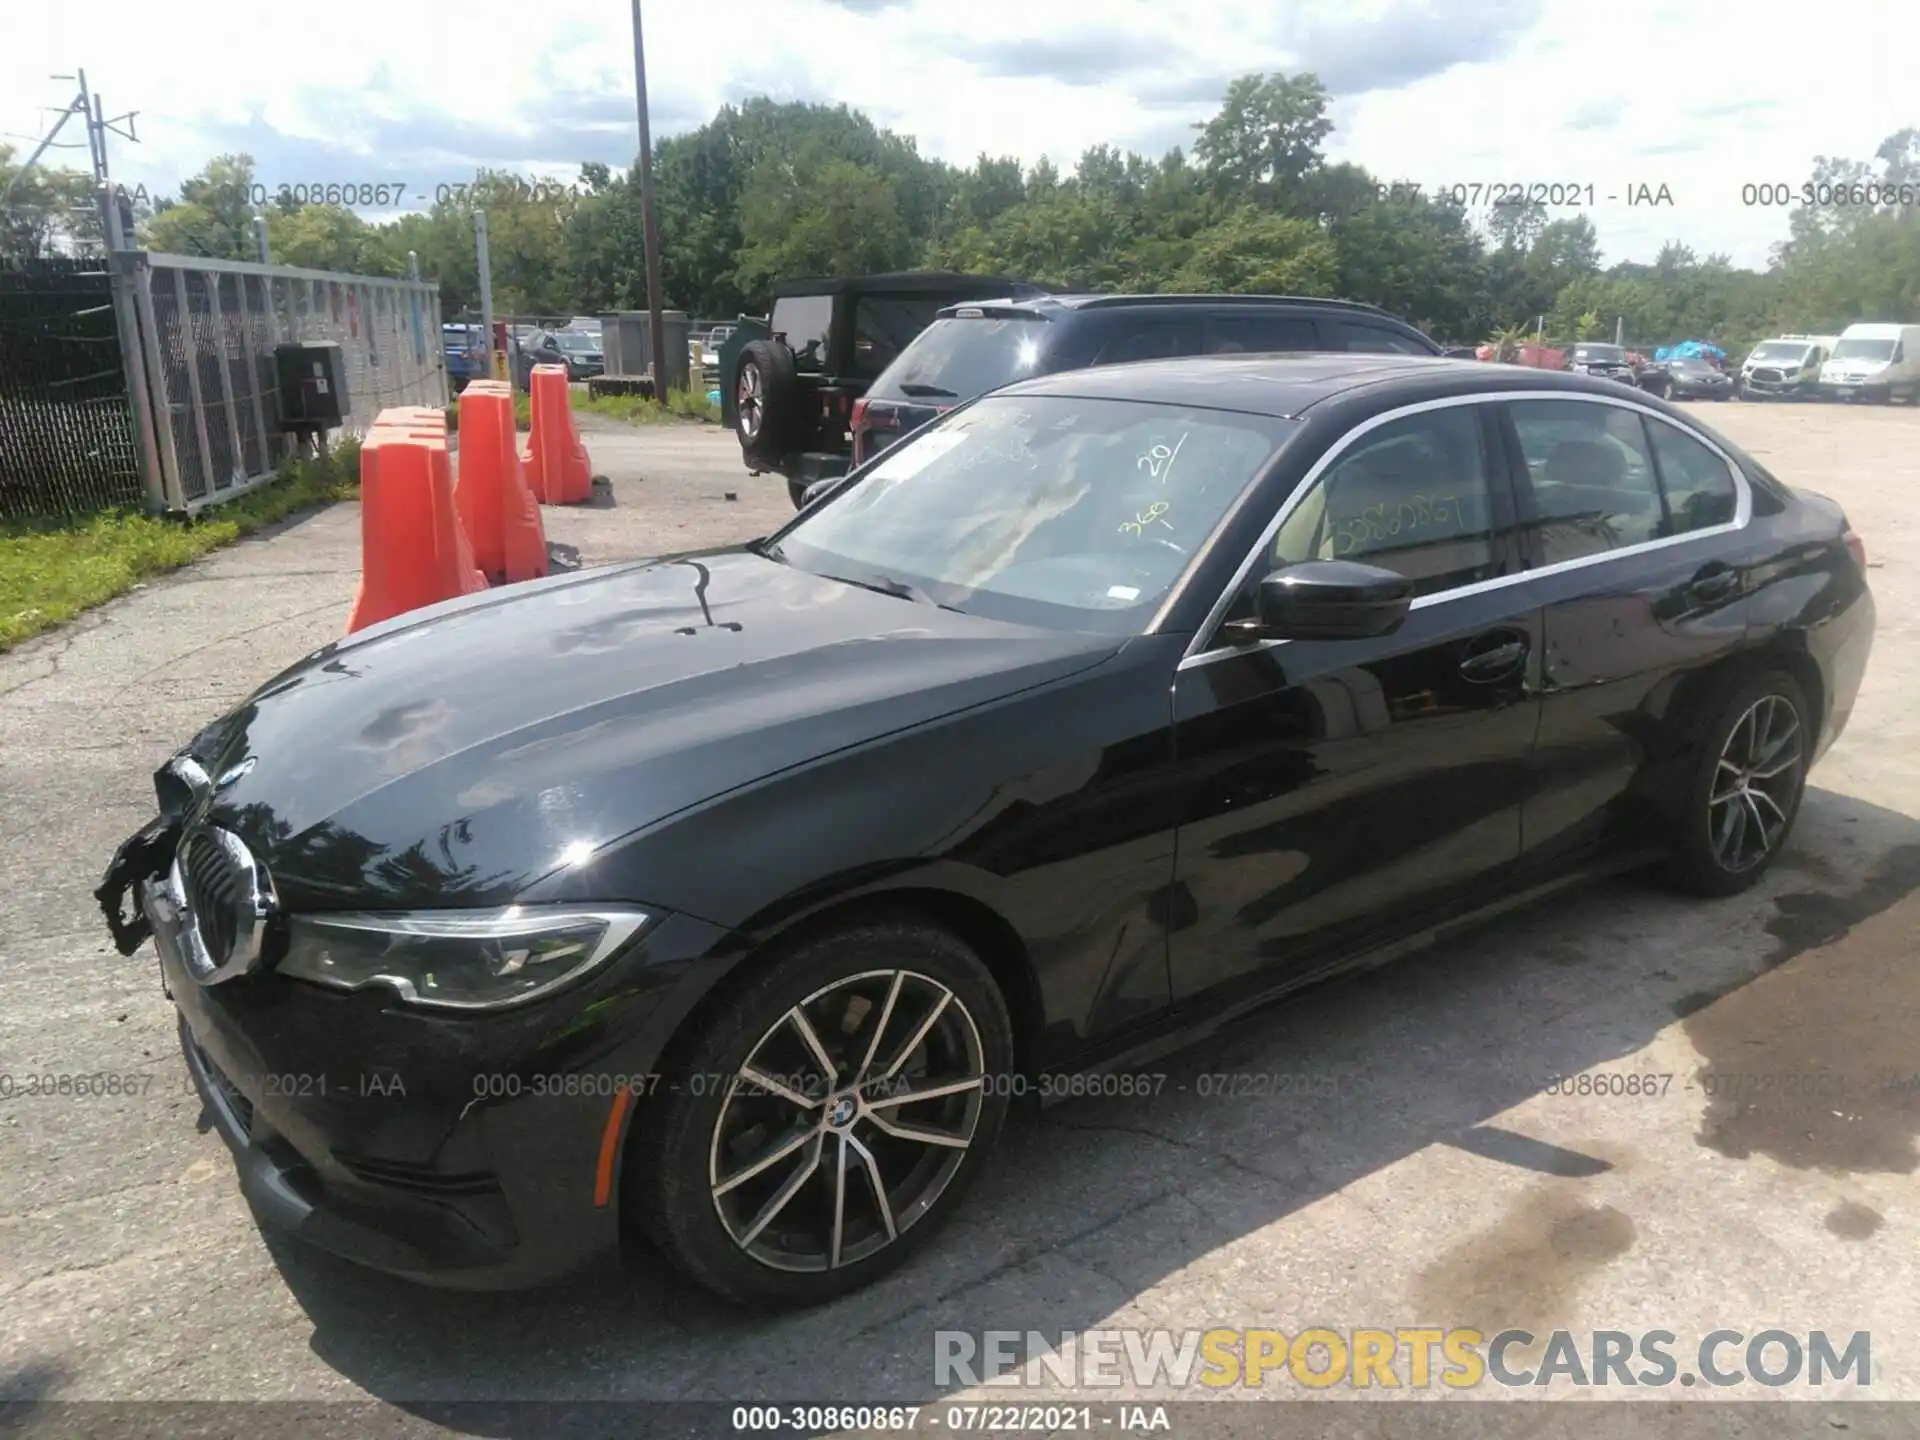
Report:
[[[292,916],[282,975],[357,991],[386,985],[430,1010],[501,1010],[580,979],[649,916],[624,906]]]

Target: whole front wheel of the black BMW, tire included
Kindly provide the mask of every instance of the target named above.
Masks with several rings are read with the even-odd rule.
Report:
[[[636,1119],[626,1213],[699,1284],[760,1308],[902,1263],[1006,1117],[1006,1002],[952,933],[879,918],[749,979]]]

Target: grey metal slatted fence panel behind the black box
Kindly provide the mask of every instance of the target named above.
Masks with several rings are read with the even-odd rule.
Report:
[[[346,430],[392,405],[445,405],[440,286],[194,255],[127,255],[167,509],[196,511],[273,476],[275,346],[326,342],[346,359]]]

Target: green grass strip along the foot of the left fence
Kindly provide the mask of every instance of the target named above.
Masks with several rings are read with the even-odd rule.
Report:
[[[109,511],[8,522],[0,526],[0,651],[125,595],[148,576],[336,499],[359,499],[355,440],[338,444],[324,461],[290,461],[273,484],[194,520]]]

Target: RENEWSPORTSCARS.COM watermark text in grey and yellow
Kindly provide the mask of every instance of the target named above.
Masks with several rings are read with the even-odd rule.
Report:
[[[933,1384],[1129,1390],[1872,1384],[1868,1331],[935,1331]]]

